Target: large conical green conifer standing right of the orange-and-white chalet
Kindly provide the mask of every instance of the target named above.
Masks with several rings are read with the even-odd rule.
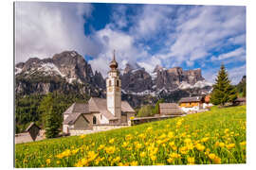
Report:
[[[214,105],[224,106],[227,102],[232,102],[237,98],[236,89],[230,84],[229,75],[222,64],[218,76],[213,85],[210,95],[210,102]]]

